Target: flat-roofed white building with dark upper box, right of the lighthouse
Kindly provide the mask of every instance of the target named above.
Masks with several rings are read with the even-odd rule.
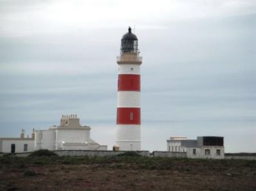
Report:
[[[187,153],[188,158],[224,158],[223,137],[197,137],[188,140],[186,137],[170,137],[167,140],[167,151]]]

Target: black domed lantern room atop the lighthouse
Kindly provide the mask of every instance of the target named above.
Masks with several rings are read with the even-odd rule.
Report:
[[[138,53],[138,38],[132,33],[131,27],[121,40],[121,53]]]

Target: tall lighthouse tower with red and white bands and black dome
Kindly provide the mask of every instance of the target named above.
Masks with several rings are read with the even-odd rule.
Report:
[[[116,146],[120,151],[140,151],[140,65],[138,38],[129,27],[121,40],[118,63]]]

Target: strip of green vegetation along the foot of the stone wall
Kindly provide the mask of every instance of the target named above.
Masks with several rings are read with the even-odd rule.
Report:
[[[127,152],[116,156],[57,156],[48,150],[35,151],[27,157],[5,154],[0,157],[0,165],[26,167],[29,165],[95,165],[109,169],[148,169],[148,170],[208,170],[228,167],[250,167],[256,169],[255,160],[204,160],[189,158],[160,158],[140,156],[136,152]]]

